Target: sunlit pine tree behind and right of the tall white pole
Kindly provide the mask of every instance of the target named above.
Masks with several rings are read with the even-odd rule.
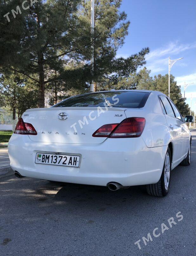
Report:
[[[90,28],[90,0],[82,1],[82,20]],[[116,58],[119,47],[124,44],[130,22],[124,11],[120,12],[122,0],[95,0],[95,32],[94,32],[94,77],[98,90],[105,84],[117,85],[118,78],[127,78],[139,66],[145,64],[145,55],[149,48],[128,58]],[[87,47],[85,60],[90,60],[90,46]]]

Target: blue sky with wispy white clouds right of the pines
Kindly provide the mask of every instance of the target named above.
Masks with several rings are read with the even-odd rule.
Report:
[[[192,83],[186,89],[187,103],[196,101],[196,1],[195,0],[122,0],[121,10],[131,22],[125,44],[117,56],[127,57],[149,47],[147,55],[151,76],[168,73],[168,57],[177,61],[171,74],[183,93],[184,82]],[[194,109],[193,109],[194,110]]]

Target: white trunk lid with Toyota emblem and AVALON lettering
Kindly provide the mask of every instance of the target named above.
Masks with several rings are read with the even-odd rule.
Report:
[[[36,129],[33,141],[66,144],[99,144],[106,138],[93,133],[104,124],[121,123],[126,108],[57,107],[27,110],[22,118]],[[64,120],[61,120],[64,119]]]

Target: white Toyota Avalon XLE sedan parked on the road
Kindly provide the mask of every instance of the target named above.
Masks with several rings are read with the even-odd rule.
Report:
[[[163,93],[111,90],[26,110],[8,144],[16,177],[110,190],[147,185],[166,196],[171,170],[190,165],[191,133]]]

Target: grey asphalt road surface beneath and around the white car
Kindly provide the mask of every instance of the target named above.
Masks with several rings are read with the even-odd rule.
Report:
[[[172,171],[164,198],[148,196],[145,186],[112,192],[1,178],[0,255],[196,255],[196,132],[192,138],[192,163]],[[171,217],[176,224],[170,228]],[[153,241],[145,245],[148,233]],[[140,250],[134,244],[139,239]]]

